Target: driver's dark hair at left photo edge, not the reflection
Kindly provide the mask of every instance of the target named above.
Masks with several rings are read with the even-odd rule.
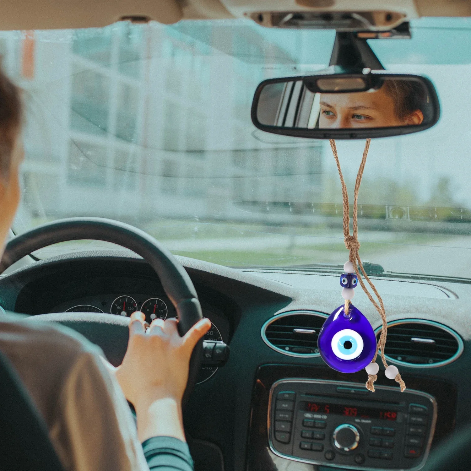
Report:
[[[13,149],[21,130],[20,90],[0,68],[0,177],[7,178]]]

